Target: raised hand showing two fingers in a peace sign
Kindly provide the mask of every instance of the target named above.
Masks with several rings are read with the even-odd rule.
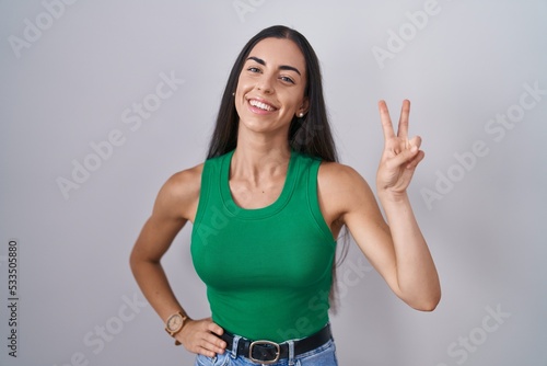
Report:
[[[400,195],[410,184],[418,163],[424,153],[420,150],[419,136],[408,139],[408,116],[410,102],[403,101],[397,135],[393,129],[392,118],[384,101],[379,102],[380,119],[384,130],[384,151],[376,173],[376,188],[380,193]]]

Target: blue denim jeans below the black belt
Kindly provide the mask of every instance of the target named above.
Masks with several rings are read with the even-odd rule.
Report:
[[[291,343],[288,341],[287,343]],[[256,366],[256,364],[251,362],[247,357],[235,356],[232,350],[226,350],[222,355],[217,355],[216,357],[207,357],[203,355],[197,355],[195,366]],[[289,357],[288,359],[280,359],[274,366],[338,366],[336,359],[336,346],[334,340],[318,346],[315,350],[303,353],[295,357]]]

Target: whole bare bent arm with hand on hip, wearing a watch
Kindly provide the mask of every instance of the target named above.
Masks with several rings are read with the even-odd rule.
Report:
[[[186,313],[170,286],[161,259],[188,220],[194,220],[199,199],[201,167],[173,175],[161,188],[131,252],[130,265],[144,297],[165,322],[177,312]],[[189,319],[176,334],[188,351],[214,356],[225,343],[214,334],[223,330],[210,319]]]

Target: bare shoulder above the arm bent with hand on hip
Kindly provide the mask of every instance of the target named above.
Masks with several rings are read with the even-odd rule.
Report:
[[[160,210],[160,214],[170,217],[194,221],[199,201],[202,170],[203,163],[171,175],[158,194],[154,211]]]

